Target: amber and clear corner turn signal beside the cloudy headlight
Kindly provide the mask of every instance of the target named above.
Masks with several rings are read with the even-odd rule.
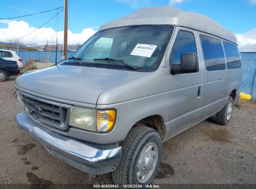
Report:
[[[116,111],[114,109],[97,111],[97,131],[110,132],[116,121]]]

